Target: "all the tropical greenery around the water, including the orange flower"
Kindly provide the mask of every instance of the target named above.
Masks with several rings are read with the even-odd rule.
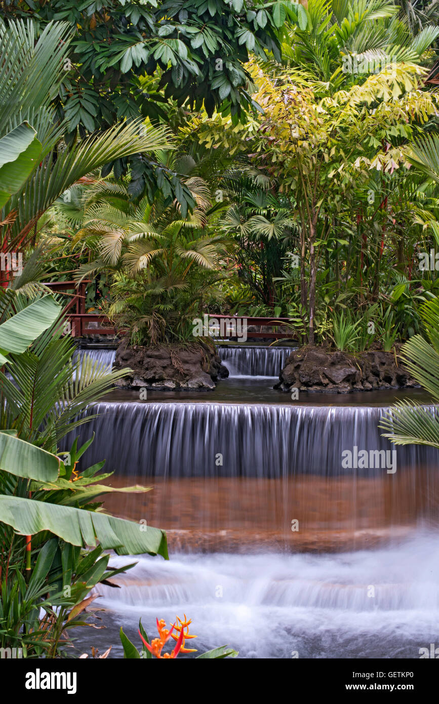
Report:
[[[131,566],[108,551],[167,558],[162,530],[102,510],[119,490],[77,429],[126,372],[79,360],[47,279],[86,282],[134,345],[221,312],[352,353],[402,344],[439,403],[438,19],[420,1],[4,4],[2,647],[65,655],[90,591]],[[435,408],[382,427],[439,448]],[[139,634],[140,652],[121,630],[126,658],[191,651],[186,617]]]

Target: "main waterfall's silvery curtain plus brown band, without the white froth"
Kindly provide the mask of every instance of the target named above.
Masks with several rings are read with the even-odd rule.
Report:
[[[383,410],[98,403],[89,410],[97,417],[79,429],[81,442],[96,433],[81,467],[106,458],[112,486],[151,487],[141,496],[110,494],[106,508],[163,527],[173,551],[378,546],[430,525],[439,505],[439,451],[392,446],[378,429]],[[343,453],[355,448],[385,459],[395,453],[395,467],[343,466]]]

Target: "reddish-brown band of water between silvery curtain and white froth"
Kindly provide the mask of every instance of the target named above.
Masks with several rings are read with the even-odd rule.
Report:
[[[424,467],[369,479],[130,476],[108,484],[151,487],[108,494],[105,508],[165,529],[170,553],[354,550],[400,540],[439,518],[439,478]]]

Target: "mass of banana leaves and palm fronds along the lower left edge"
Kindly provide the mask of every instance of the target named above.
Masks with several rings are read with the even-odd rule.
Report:
[[[95,476],[105,460],[79,476],[75,470],[92,439],[82,448],[75,440],[60,453],[68,432],[86,422],[82,412],[118,376],[91,360],[79,374],[60,312],[44,293],[30,301],[23,294],[1,294],[0,642],[23,648],[27,657],[62,654],[61,636],[82,624],[79,615],[95,598],[89,591],[123,571],[108,568],[104,550],[167,558],[162,531],[139,530],[99,511],[96,498],[116,491],[100,483],[109,474]],[[89,553],[81,550],[90,547]]]

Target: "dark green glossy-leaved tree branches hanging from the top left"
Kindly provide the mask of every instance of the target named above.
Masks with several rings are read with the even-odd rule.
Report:
[[[243,118],[253,107],[244,68],[250,52],[280,58],[286,19],[307,23],[304,8],[291,0],[53,0],[37,6],[13,0],[6,16],[34,18],[42,26],[63,20],[72,30],[72,51],[54,91],[68,144],[139,116],[154,124],[178,121],[184,105],[204,105],[208,113],[221,106]],[[146,187],[155,190],[161,175],[183,210],[193,205],[174,170],[151,159],[148,147],[138,151],[143,155],[129,160],[115,154],[108,172],[114,165],[120,177],[129,168],[136,196]]]

